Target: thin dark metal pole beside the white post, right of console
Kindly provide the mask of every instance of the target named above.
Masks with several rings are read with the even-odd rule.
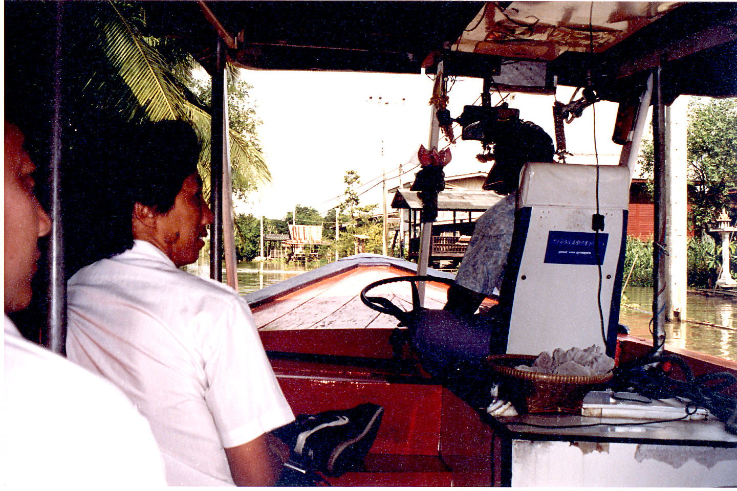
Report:
[[[655,106],[652,112],[652,134],[654,149],[653,166],[653,242],[652,242],[652,341],[653,354],[663,352],[666,342],[665,278],[666,262],[663,261],[665,242],[665,166],[666,166],[666,110],[663,105],[663,68],[655,68],[654,77]]]

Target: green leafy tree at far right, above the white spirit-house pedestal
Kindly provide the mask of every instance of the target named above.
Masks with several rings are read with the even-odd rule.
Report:
[[[737,100],[694,98],[688,105],[688,180],[694,186],[690,219],[703,231],[737,188]],[[652,178],[652,141],[643,141],[640,174]]]

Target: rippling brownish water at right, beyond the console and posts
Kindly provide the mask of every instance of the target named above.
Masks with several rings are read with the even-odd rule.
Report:
[[[619,322],[628,326],[635,336],[652,339],[649,332],[652,289],[630,286],[624,292],[622,303],[639,305],[639,308],[622,308]],[[737,309],[732,300],[688,294],[686,318],[695,322],[666,322],[666,346],[737,361],[736,317]]]

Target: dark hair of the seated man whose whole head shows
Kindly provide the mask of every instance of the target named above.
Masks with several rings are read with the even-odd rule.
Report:
[[[139,202],[166,213],[184,180],[197,172],[201,148],[198,135],[184,121],[158,121],[142,124],[132,137],[127,142],[130,211]]]

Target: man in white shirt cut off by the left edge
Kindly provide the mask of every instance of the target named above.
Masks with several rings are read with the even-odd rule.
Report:
[[[161,487],[164,466],[148,423],[113,385],[18,333],[51,222],[33,194],[24,135],[5,121],[4,470],[6,487]]]

